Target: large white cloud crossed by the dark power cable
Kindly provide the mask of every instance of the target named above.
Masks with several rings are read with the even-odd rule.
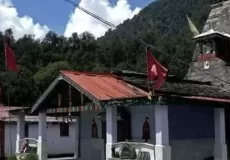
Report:
[[[138,14],[140,8],[131,9],[127,0],[118,0],[116,5],[109,4],[108,0],[81,0],[80,6],[102,17],[103,19],[118,25],[128,18]],[[69,22],[64,32],[65,36],[71,36],[73,32],[83,33],[89,31],[95,37],[100,37],[108,30],[108,26],[94,19],[79,9],[75,9],[70,15]]]

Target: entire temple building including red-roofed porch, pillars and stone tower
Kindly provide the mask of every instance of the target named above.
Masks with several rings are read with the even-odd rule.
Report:
[[[25,114],[39,115],[37,155],[46,160],[47,116],[75,122],[80,160],[227,160],[230,144],[230,1],[212,6],[186,79],[168,75],[149,94],[147,75],[132,71],[61,71],[31,110],[18,116],[16,152]],[[153,85],[153,84],[151,84]]]

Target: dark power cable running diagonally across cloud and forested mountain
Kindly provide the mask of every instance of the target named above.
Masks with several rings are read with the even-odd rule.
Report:
[[[107,21],[107,20],[105,20],[105,19],[103,19],[103,18],[97,16],[96,14],[94,14],[94,13],[92,13],[92,12],[90,12],[90,11],[88,11],[88,10],[82,8],[82,7],[80,7],[80,6],[77,5],[75,2],[73,2],[73,1],[71,1],[71,0],[65,0],[65,1],[68,2],[68,3],[70,3],[70,4],[72,4],[74,7],[80,9],[81,11],[85,12],[86,14],[88,14],[88,15],[90,15],[90,16],[96,18],[97,20],[103,22],[104,24],[108,25],[109,27],[111,27],[111,28],[113,28],[113,29],[116,29],[116,28],[117,28],[116,25],[114,25],[114,24],[112,24],[111,22],[109,22],[109,21]],[[134,40],[139,41],[139,42],[142,43],[143,45],[145,45],[145,46],[147,46],[147,47],[150,47],[150,48],[156,50],[157,52],[163,53],[164,55],[166,55],[166,56],[168,56],[168,57],[170,57],[170,58],[172,57],[170,54],[168,54],[168,53],[166,53],[166,52],[163,52],[163,51],[159,50],[159,49],[156,48],[155,46],[153,46],[153,45],[151,45],[151,44],[148,44],[147,42],[145,42],[145,41],[143,41],[142,39],[139,39],[139,38],[133,36],[133,35],[130,34],[130,33],[127,33],[127,32],[124,32],[124,31],[123,31],[123,33],[126,34],[127,36],[133,38]],[[186,63],[186,62],[180,60],[179,58],[175,58],[175,60],[177,60],[178,62],[180,62],[180,63],[182,63],[182,64],[185,64],[185,65],[187,65],[187,66],[190,67],[190,65],[189,65],[188,63]],[[215,78],[215,79],[218,79],[218,80],[220,80],[220,81],[222,81],[222,82],[224,82],[224,83],[230,85],[230,82],[227,82],[227,81],[225,81],[225,80],[223,80],[223,79],[221,79],[221,78],[219,78],[219,77],[217,77],[217,76],[214,76],[214,75],[212,75],[212,74],[210,74],[210,73],[207,73],[207,72],[205,72],[205,71],[203,71],[203,70],[201,70],[201,69],[199,69],[199,68],[197,68],[197,67],[194,67],[194,66],[193,66],[192,68],[194,68],[194,69],[198,70],[199,72],[205,73],[205,74],[207,74],[207,75],[209,75],[209,76],[211,76],[211,77],[213,77],[213,78]]]

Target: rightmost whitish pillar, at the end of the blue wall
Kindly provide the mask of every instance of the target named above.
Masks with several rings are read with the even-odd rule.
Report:
[[[214,159],[227,160],[224,108],[214,109],[214,121],[215,121]]]

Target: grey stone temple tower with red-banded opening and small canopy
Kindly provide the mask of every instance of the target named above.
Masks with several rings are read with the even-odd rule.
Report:
[[[197,45],[186,78],[230,91],[230,0],[211,6],[203,32],[193,39]]]

